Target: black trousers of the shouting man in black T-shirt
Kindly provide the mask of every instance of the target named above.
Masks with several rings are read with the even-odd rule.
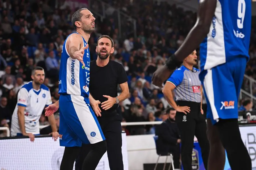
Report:
[[[110,117],[98,118],[98,120],[107,142],[110,170],[123,170],[121,116],[115,114]],[[79,157],[76,159],[75,170],[82,169],[83,160],[90,151],[90,147],[90,144],[82,144]]]

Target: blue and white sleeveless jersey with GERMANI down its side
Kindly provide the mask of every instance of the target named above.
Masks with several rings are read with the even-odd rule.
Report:
[[[78,33],[74,33],[78,34]],[[71,34],[70,34],[71,35]],[[70,36],[69,35],[69,36]],[[69,38],[67,37],[67,39]],[[82,36],[81,36],[82,37]],[[77,59],[72,59],[66,48],[66,41],[64,41],[61,53],[61,63],[59,70],[59,94],[79,95],[89,97],[89,83],[90,83],[90,52],[89,48],[84,50],[84,64]],[[84,46],[87,42],[84,40]]]

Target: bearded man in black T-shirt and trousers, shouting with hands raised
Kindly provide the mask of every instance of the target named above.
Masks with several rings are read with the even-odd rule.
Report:
[[[129,96],[128,78],[120,63],[110,60],[114,52],[113,40],[102,35],[96,46],[98,57],[90,62],[90,94],[99,100],[99,108],[94,111],[107,142],[108,161],[111,170],[123,170],[121,115],[117,114],[118,103]],[[117,96],[117,85],[122,92]],[[76,159],[75,170],[80,170],[90,144],[82,145]]]

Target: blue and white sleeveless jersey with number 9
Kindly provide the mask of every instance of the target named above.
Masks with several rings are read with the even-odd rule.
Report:
[[[201,70],[237,57],[249,60],[251,0],[217,0],[207,37],[200,45]]]

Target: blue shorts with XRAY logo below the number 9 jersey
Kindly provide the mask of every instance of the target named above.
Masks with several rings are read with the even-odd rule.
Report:
[[[212,124],[219,118],[238,118],[238,97],[246,63],[245,57],[237,57],[199,74],[207,102],[206,117],[212,120]]]

